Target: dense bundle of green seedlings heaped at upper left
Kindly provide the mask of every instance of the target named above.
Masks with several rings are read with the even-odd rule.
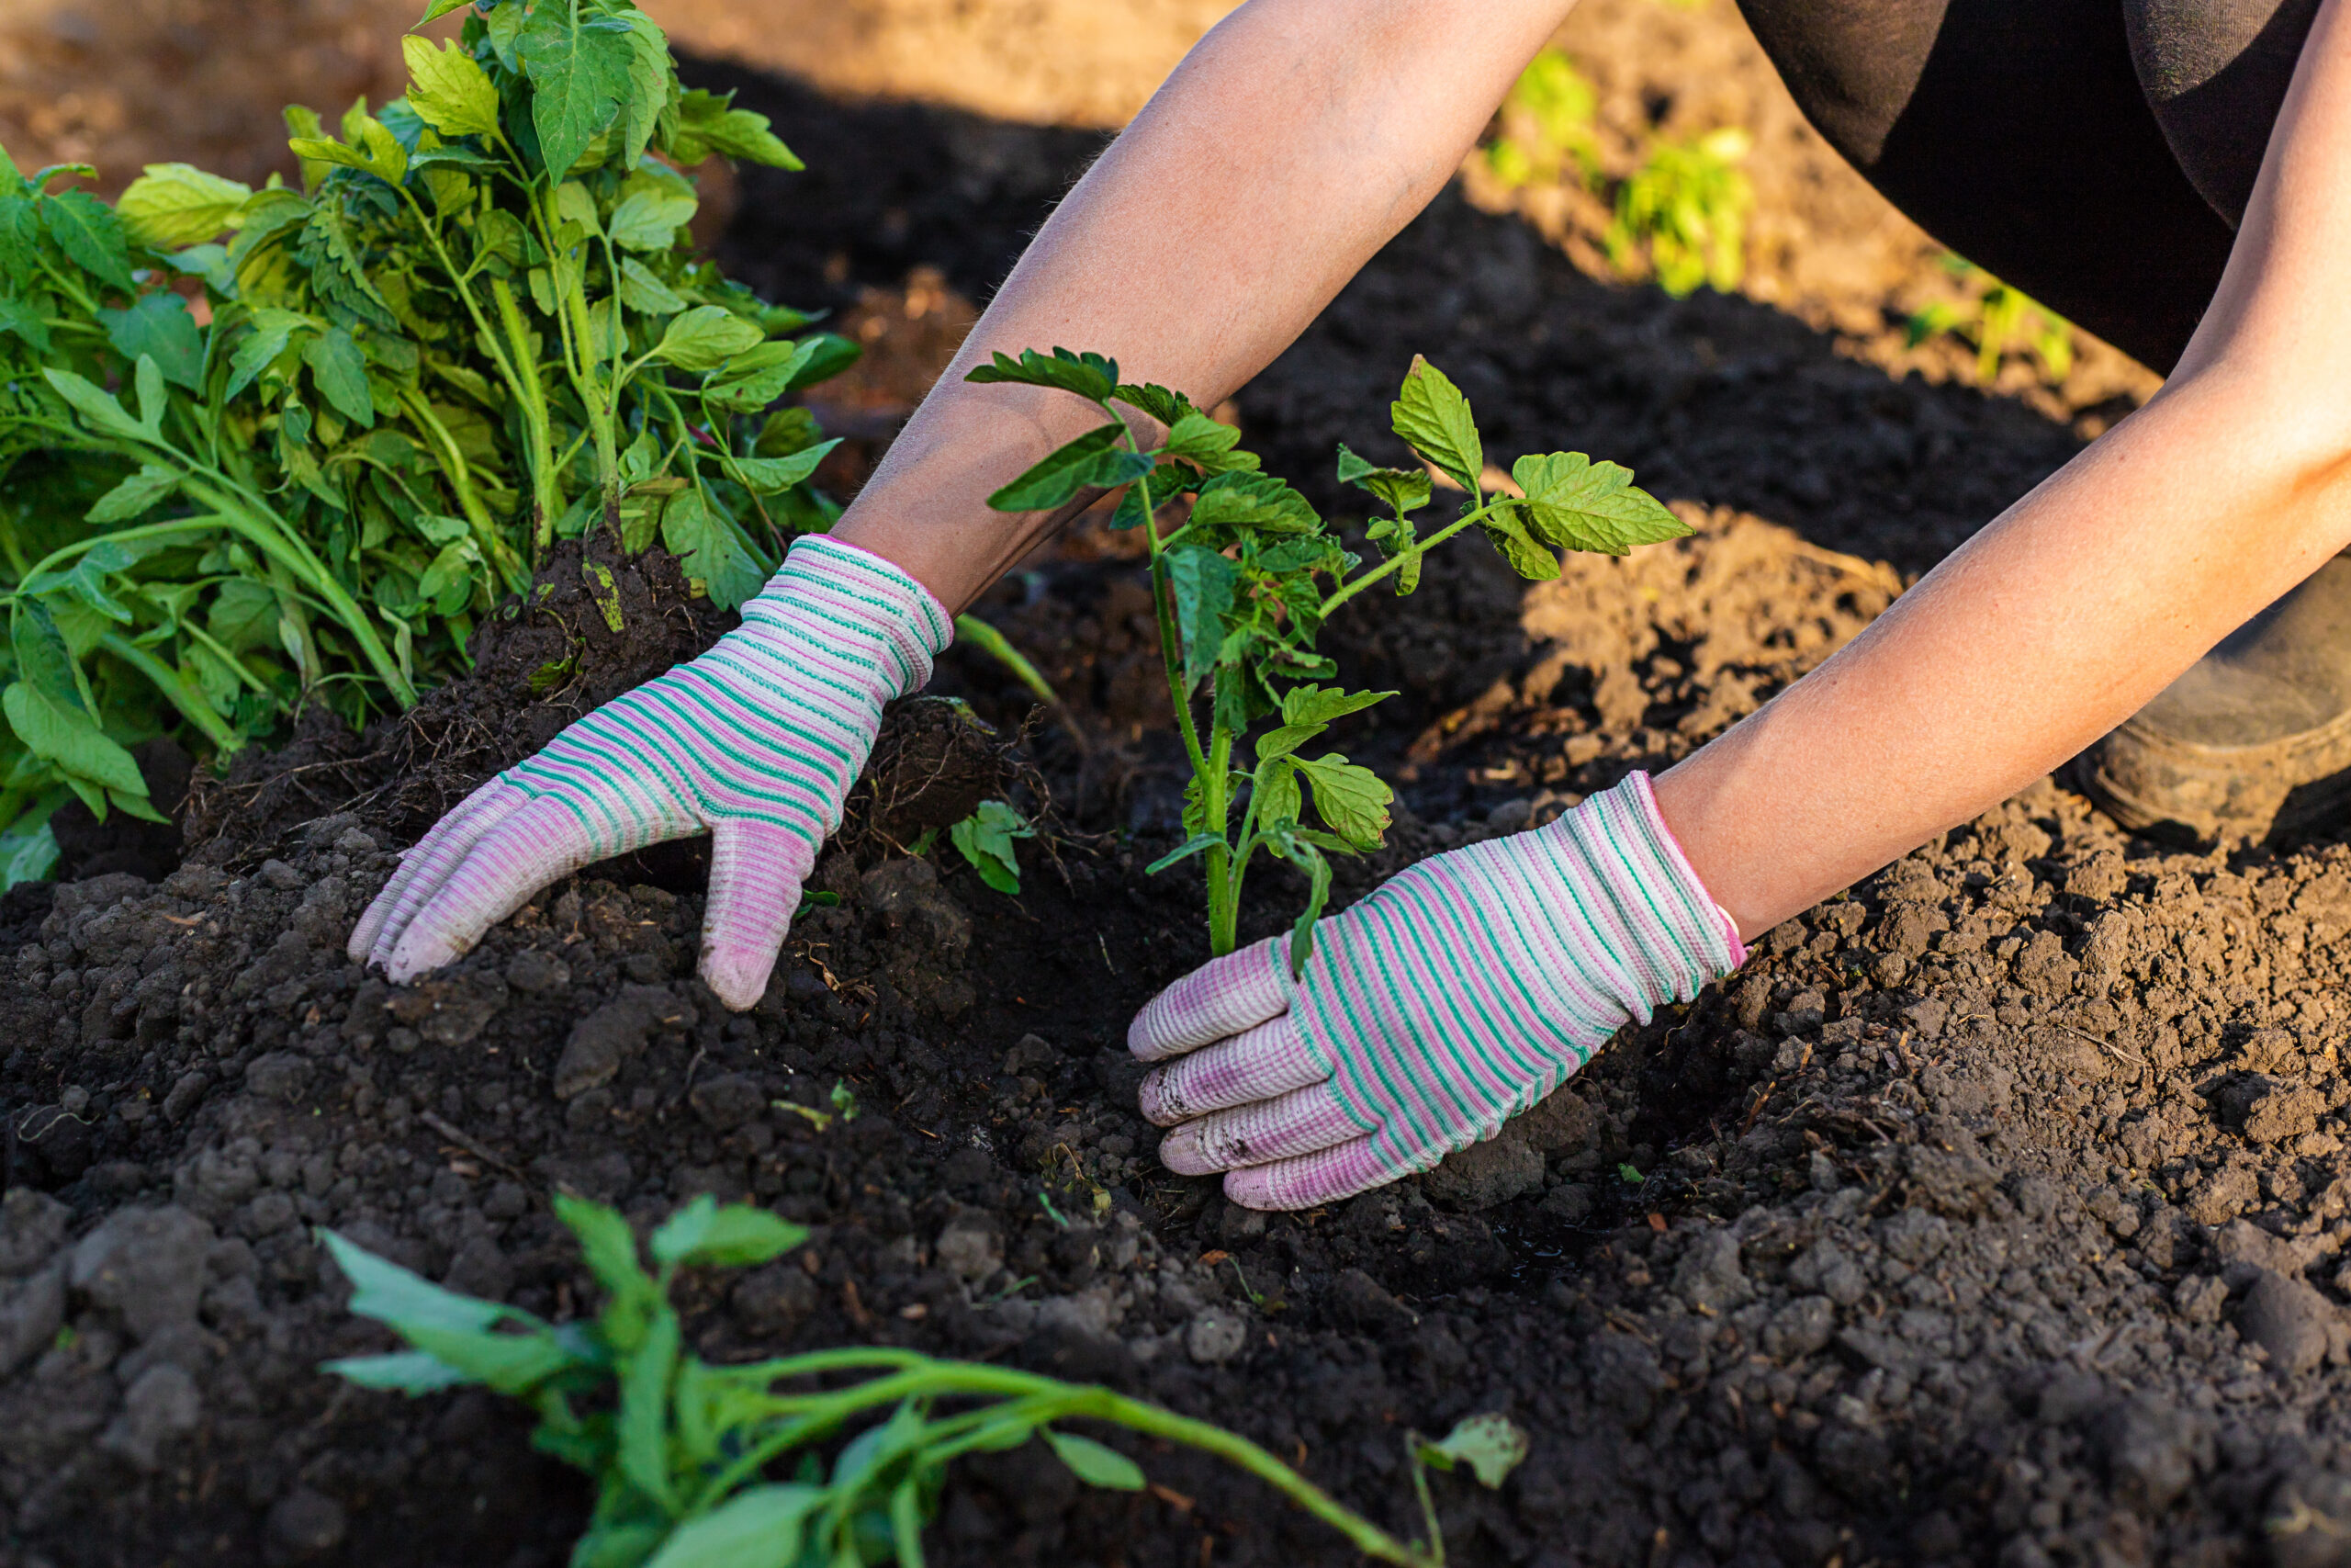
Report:
[[[108,207],[0,155],[0,884],[66,799],[158,816],[139,741],[411,708],[560,538],[661,541],[731,609],[837,510],[783,400],[856,343],[686,235],[682,169],[799,167],[766,120],[623,0],[404,49],[400,101],[287,110],[301,188],[155,165]]]

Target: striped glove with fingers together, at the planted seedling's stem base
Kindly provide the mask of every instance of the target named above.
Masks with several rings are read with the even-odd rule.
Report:
[[[1625,1023],[1747,957],[1648,773],[1556,823],[1455,849],[1314,926],[1215,959],[1126,1034],[1159,1161],[1248,1208],[1312,1208],[1493,1138]]]

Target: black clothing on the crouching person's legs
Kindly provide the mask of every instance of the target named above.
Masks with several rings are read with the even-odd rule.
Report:
[[[1740,0],[1799,108],[1954,252],[2170,371],[2318,0]]]

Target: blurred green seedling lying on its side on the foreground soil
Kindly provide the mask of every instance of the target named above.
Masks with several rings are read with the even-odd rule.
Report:
[[[844,1114],[856,1114],[853,1103]],[[1272,1483],[1385,1563],[1441,1568],[1444,1537],[1422,1469],[1469,1465],[1500,1486],[1526,1436],[1474,1415],[1446,1441],[1406,1439],[1427,1544],[1401,1542],[1295,1469],[1223,1427],[1105,1387],[1081,1387],[910,1349],[820,1349],[741,1366],[686,1352],[670,1286],[684,1267],[745,1267],[809,1232],[762,1208],[698,1197],[654,1234],[654,1272],[611,1208],[557,1197],[604,1286],[592,1324],[548,1324],[520,1307],[444,1291],[334,1232],[327,1251],[353,1284],[350,1309],[407,1352],[329,1361],[360,1387],[430,1394],[480,1385],[538,1413],[531,1446],[583,1469],[597,1497],[574,1568],[919,1568],[922,1528],[947,1465],[1041,1439],[1086,1486],[1143,1490],[1133,1460],[1063,1422],[1089,1420],[1213,1453]],[[839,1443],[828,1465],[823,1450]],[[788,1476],[788,1479],[778,1479]]]

